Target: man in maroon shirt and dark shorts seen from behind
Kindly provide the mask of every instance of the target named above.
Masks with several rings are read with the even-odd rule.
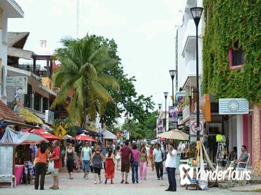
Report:
[[[121,148],[121,183],[128,184],[128,172],[130,171],[131,149],[128,147],[128,141],[125,141],[125,146]]]

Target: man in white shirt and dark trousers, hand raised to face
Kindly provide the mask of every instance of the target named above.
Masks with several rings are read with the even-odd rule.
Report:
[[[165,166],[167,169],[167,179],[169,180],[169,187],[165,191],[176,192],[177,182],[175,178],[175,171],[177,165],[177,150],[174,149],[174,144],[169,144],[169,153],[167,153],[167,159]]]

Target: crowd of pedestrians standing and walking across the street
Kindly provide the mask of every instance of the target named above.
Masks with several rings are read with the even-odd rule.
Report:
[[[47,159],[54,162],[54,170],[52,171],[53,185],[50,189],[59,189],[59,168],[61,167],[61,150],[59,141],[54,141],[52,144],[53,150],[48,155],[49,150],[45,142],[40,143],[40,147],[36,153],[36,178],[35,189],[38,189],[40,177],[40,189],[44,189],[45,170]],[[167,153],[167,155],[165,155]],[[163,161],[167,171],[167,179],[169,187],[166,191],[174,192],[177,190],[175,180],[175,169],[177,151],[174,150],[174,145],[167,145],[166,150],[159,143],[155,145],[131,143],[125,141],[122,146],[113,146],[110,143],[107,147],[100,148],[97,143],[94,146],[89,146],[89,142],[85,142],[80,148],[80,157],[75,153],[72,143],[68,143],[65,151],[64,164],[67,166],[69,177],[73,180],[73,166],[77,159],[80,159],[82,164],[83,178],[89,180],[89,173],[93,173],[94,184],[102,183],[101,169],[105,169],[105,181],[110,181],[113,184],[115,171],[121,171],[121,184],[129,184],[128,174],[131,170],[131,182],[138,183],[139,180],[147,180],[147,169],[155,171],[156,179],[163,180]],[[80,162],[77,164],[77,169],[80,167]]]

